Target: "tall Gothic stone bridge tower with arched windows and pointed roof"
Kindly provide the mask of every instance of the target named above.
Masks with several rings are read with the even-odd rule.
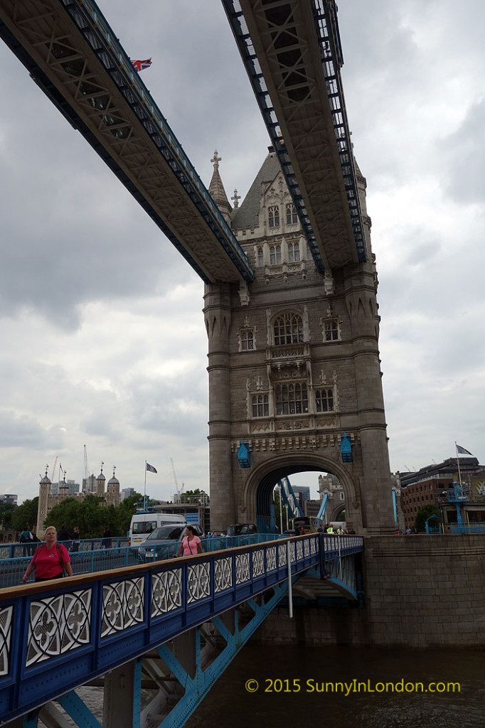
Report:
[[[264,528],[277,481],[314,470],[339,478],[355,531],[390,531],[374,258],[317,271],[272,147],[240,206],[211,161],[210,193],[255,275],[205,289],[211,524]],[[358,184],[370,250],[360,172]]]

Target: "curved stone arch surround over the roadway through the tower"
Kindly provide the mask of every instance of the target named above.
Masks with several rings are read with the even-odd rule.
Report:
[[[256,523],[258,518],[269,518],[275,485],[297,472],[331,472],[336,475],[344,491],[347,523],[356,531],[362,529],[357,489],[352,476],[342,463],[318,454],[275,456],[256,467],[242,489],[240,512],[245,513],[246,520]]]

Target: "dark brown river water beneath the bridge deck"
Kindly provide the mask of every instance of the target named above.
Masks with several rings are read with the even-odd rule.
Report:
[[[246,689],[247,681],[253,681],[249,687],[254,692]],[[419,683],[424,689],[430,683],[438,685],[415,692],[414,684]],[[459,683],[460,692],[456,686],[452,692],[448,683]],[[401,689],[406,692],[398,692]],[[79,694],[102,721],[100,689],[81,688]],[[318,728],[485,726],[485,650],[248,645],[186,728],[312,724]]]

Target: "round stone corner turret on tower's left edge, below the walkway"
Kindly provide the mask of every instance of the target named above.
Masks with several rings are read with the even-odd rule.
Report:
[[[206,285],[204,301],[209,340],[210,526],[223,531],[235,517],[231,462],[230,285]]]

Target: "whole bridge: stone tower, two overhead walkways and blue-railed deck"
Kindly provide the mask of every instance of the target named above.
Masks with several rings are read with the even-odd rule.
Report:
[[[205,282],[213,528],[269,530],[275,484],[325,471],[342,483],[347,524],[385,534],[376,269],[336,5],[223,4],[271,141],[234,207],[218,153],[207,190],[95,2],[0,0],[0,35]],[[182,725],[293,582],[308,596],[329,577],[357,600],[362,548],[309,536],[3,590],[0,715],[64,727],[57,700],[99,726],[75,689],[105,674],[106,728]]]

